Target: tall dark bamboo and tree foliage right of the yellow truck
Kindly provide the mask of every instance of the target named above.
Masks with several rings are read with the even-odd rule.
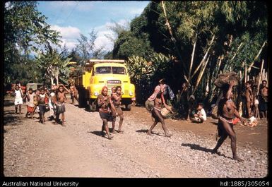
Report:
[[[171,38],[169,28],[165,24],[165,13],[161,2],[151,1],[140,16],[131,20],[131,30],[119,35],[114,43],[115,56],[129,57],[129,61],[137,62],[132,63],[135,67],[131,67],[131,75],[135,77],[134,81],[136,86],[138,84],[138,89],[155,85],[154,77],[170,72],[175,76],[175,79],[170,77],[170,80],[176,81],[173,90],[180,90],[180,83],[186,81],[184,76],[189,74],[194,43],[196,42],[196,49],[192,73],[201,63],[214,35],[215,40],[207,54],[207,57],[209,56],[207,68],[196,90],[196,96],[202,99],[211,97],[214,90],[213,81],[218,73],[230,71],[230,68],[232,71],[243,73],[243,63],[251,64],[262,44],[267,40],[268,14],[264,2],[165,1],[165,11],[175,40]],[[144,44],[141,41],[144,41]],[[258,61],[266,58],[265,50]],[[148,64],[147,61],[152,61],[149,54],[153,52],[174,56],[176,59],[174,65],[173,61],[168,61],[168,66],[164,69]],[[138,56],[138,59],[134,55]],[[191,79],[192,86],[195,86],[196,78],[200,75],[204,64],[200,65],[196,76]],[[160,68],[160,71],[154,71],[153,68]],[[143,79],[146,79],[146,82]],[[205,93],[207,83],[208,94]],[[149,94],[148,91],[145,93]],[[146,95],[143,97],[147,97]]]

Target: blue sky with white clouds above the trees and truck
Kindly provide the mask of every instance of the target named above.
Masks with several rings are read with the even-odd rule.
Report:
[[[105,36],[112,35],[110,26],[128,25],[146,8],[149,1],[37,1],[37,10],[47,17],[52,29],[61,32],[62,43],[72,49],[80,34],[97,32],[95,47],[112,50],[113,43]]]

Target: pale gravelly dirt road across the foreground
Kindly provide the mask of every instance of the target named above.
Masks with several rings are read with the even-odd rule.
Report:
[[[6,102],[5,176],[211,178],[264,177],[268,173],[266,123],[252,130],[237,127],[237,149],[244,162],[235,162],[230,158],[229,140],[219,155],[211,154],[216,143],[212,123],[167,119],[174,135],[166,138],[160,125],[154,135],[146,135],[152,121],[144,108],[133,107],[124,114],[124,134],[107,140],[99,135],[102,121],[97,112],[66,104],[63,127],[25,119],[25,114],[14,114],[12,103]],[[252,133],[247,137],[250,141],[242,138],[247,133]],[[261,143],[255,142],[257,136]]]

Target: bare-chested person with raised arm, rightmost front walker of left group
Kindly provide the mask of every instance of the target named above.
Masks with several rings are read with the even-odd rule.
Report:
[[[66,92],[69,92],[67,88],[64,87],[64,85],[59,85],[59,89],[57,90],[56,93],[56,99],[55,99],[55,104],[56,104],[56,120],[55,123],[59,123],[59,115],[61,114],[61,125],[65,126],[64,124],[64,112],[65,112],[65,102],[67,100],[66,98]]]

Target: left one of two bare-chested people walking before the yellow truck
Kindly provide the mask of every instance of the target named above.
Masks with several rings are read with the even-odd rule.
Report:
[[[109,127],[107,126],[107,121],[112,121],[111,112],[114,112],[116,114],[116,111],[114,109],[112,100],[110,99],[110,95],[107,95],[107,86],[104,86],[101,90],[101,94],[98,95],[97,106],[99,108],[100,118],[102,119],[103,122],[101,135],[103,135],[105,130],[107,132],[107,138],[110,140],[113,138],[113,136],[110,135]]]

